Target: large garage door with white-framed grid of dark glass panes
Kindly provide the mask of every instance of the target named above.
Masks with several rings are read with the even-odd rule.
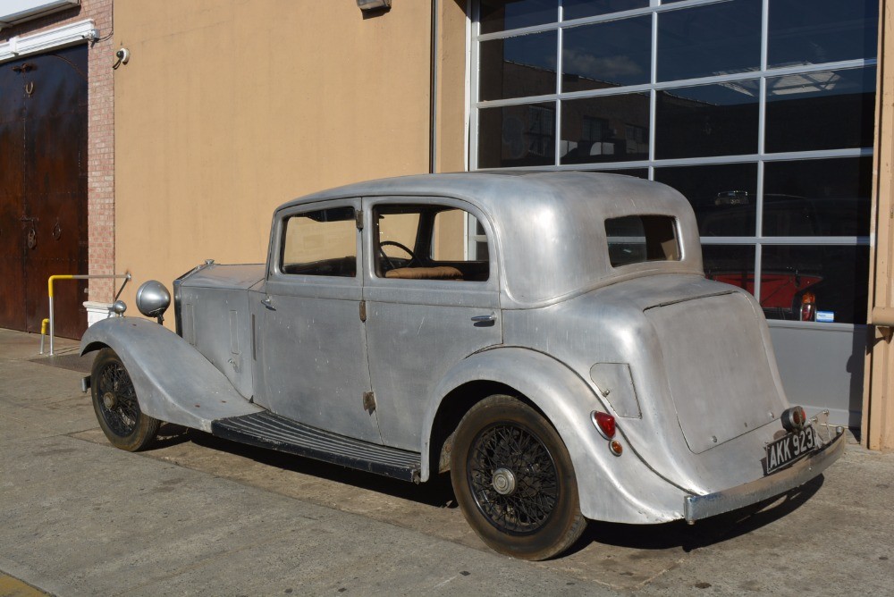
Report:
[[[789,399],[858,426],[877,29],[875,0],[479,0],[471,167],[678,189]]]

